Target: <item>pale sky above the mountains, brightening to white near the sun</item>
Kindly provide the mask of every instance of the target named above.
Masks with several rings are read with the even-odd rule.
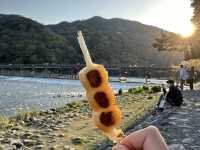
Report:
[[[0,13],[19,14],[43,24],[88,19],[123,18],[190,34],[190,0],[0,0]]]

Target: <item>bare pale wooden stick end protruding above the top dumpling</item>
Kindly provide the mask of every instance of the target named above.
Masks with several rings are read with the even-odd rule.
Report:
[[[78,39],[78,43],[80,45],[80,48],[81,48],[83,56],[84,56],[86,66],[92,65],[93,63],[92,63],[92,60],[91,60],[91,57],[90,57],[90,53],[88,51],[87,45],[85,44],[85,40],[83,38],[81,31],[78,31],[77,39]]]

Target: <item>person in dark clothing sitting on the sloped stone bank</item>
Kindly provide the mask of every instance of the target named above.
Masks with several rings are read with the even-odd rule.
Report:
[[[167,81],[169,85],[169,91],[167,92],[163,86],[164,94],[160,96],[157,108],[160,111],[163,111],[165,102],[168,102],[171,106],[181,106],[183,103],[183,96],[181,91],[177,86],[174,85],[173,80]]]

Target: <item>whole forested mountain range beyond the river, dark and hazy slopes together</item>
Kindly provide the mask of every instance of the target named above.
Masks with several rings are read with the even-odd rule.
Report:
[[[182,59],[152,47],[161,29],[135,21],[93,17],[45,26],[22,16],[0,15],[0,63],[83,63],[78,30],[97,63],[166,66]]]

